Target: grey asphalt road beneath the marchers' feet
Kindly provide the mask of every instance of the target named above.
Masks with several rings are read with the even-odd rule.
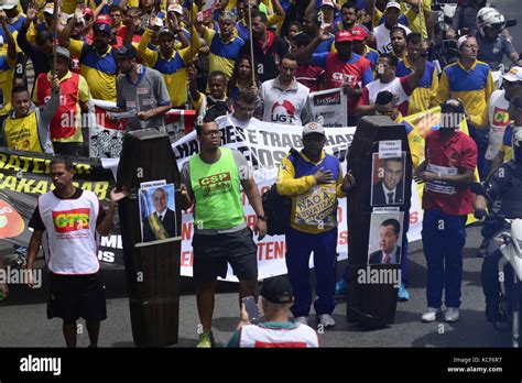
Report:
[[[522,20],[522,7],[516,0],[493,1],[507,18]],[[522,52],[522,25],[511,29],[513,42]],[[398,303],[395,322],[379,330],[363,330],[346,321],[346,304],[338,303],[334,317],[337,325],[319,335],[324,347],[509,347],[510,333],[498,332],[486,321],[485,298],[480,285],[482,260],[476,258],[480,243],[478,228],[468,229],[464,251],[463,305],[460,321],[422,324],[425,309],[426,264],[422,245],[411,245],[410,294],[411,300]],[[345,262],[339,263],[338,273]],[[107,271],[108,319],[102,322],[100,347],[133,347],[129,300],[122,271]],[[216,295],[214,332],[218,344],[225,344],[238,322],[237,286],[220,283]],[[182,280],[180,309],[180,342],[175,347],[194,347],[197,342],[198,316],[194,285]],[[315,316],[311,316],[314,324]],[[78,346],[88,344],[87,333],[79,333]],[[0,347],[63,347],[62,322],[46,319],[44,289],[29,291],[25,286],[12,286],[8,300],[0,302]]]

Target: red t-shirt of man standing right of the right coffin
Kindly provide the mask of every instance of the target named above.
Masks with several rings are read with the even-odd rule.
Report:
[[[475,171],[477,145],[464,132],[457,132],[448,142],[441,140],[439,131],[432,131],[425,141],[427,171],[441,174],[457,174],[458,169]],[[422,206],[424,210],[443,210],[449,216],[465,216],[474,211],[475,195],[468,186],[453,186],[439,180],[424,185]]]

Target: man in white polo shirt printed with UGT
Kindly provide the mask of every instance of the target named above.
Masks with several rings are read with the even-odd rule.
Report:
[[[286,54],[279,65],[279,76],[261,84],[259,98],[263,121],[300,127],[308,122],[309,89],[297,83],[296,69],[297,59]]]

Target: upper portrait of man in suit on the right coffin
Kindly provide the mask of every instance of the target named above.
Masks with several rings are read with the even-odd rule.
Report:
[[[385,158],[382,178],[373,185],[371,205],[396,205],[404,200],[404,157]]]

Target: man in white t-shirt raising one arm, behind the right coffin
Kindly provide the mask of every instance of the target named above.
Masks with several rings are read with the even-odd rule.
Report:
[[[371,116],[377,111],[376,99],[381,91],[388,90],[396,98],[396,107],[402,116],[407,116],[410,95],[418,86],[426,69],[426,48],[420,50],[417,66],[414,72],[396,77],[398,58],[391,53],[381,53],[377,61],[377,79],[362,89],[362,96],[356,108],[356,114]]]

